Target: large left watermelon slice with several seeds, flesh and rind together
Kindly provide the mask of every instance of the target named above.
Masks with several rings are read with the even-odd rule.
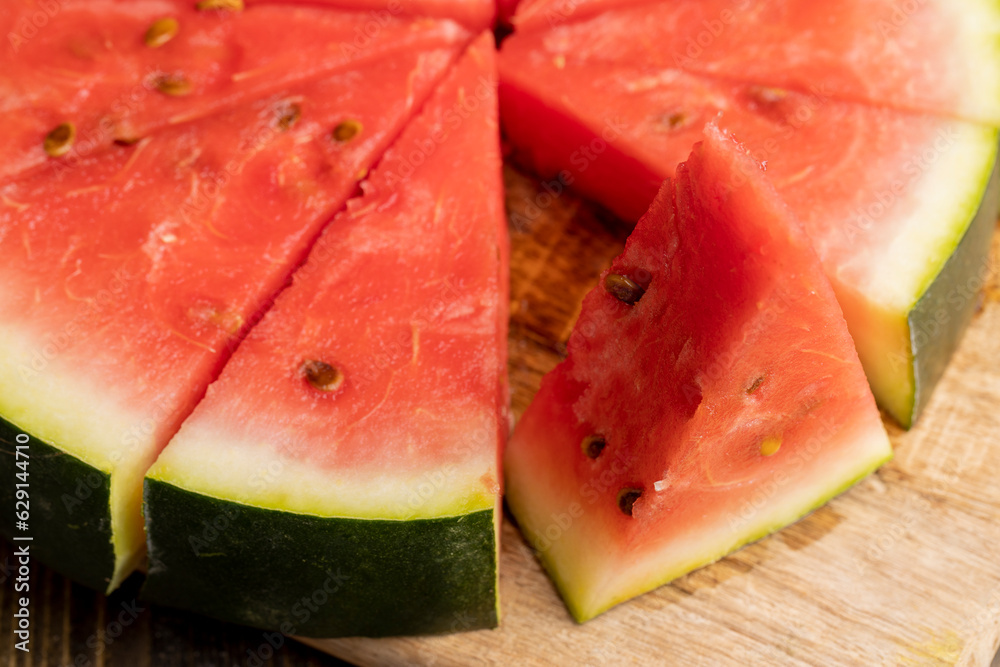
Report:
[[[0,415],[32,440],[40,560],[101,589],[132,570],[146,470],[456,54],[397,52],[0,187]]]

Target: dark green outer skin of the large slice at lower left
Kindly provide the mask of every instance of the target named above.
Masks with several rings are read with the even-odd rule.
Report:
[[[28,530],[15,526],[18,434],[28,436]],[[24,440],[24,438],[21,438]],[[30,536],[31,556],[103,591],[114,573],[111,475],[0,419],[0,531]]]

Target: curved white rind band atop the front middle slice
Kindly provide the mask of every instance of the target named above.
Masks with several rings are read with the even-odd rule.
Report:
[[[343,468],[291,455],[268,438],[234,437],[233,429],[206,413],[194,415],[170,442],[147,476],[232,502],[320,517],[412,520],[460,516],[492,509],[499,493],[496,447],[476,434],[497,433],[496,415],[468,418],[467,441],[442,442],[452,463],[410,466],[375,461]],[[453,432],[452,429],[448,429]],[[331,443],[308,443],[323,451]],[[463,454],[464,453],[464,454]]]

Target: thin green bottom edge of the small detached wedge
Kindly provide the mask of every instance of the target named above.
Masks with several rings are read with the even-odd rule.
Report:
[[[876,438],[885,439],[884,433],[875,434]],[[830,490],[822,491],[817,494],[814,499],[810,500],[804,506],[796,507],[791,511],[786,512],[771,512],[769,516],[765,517],[764,520],[759,521],[756,526],[747,530],[742,537],[738,538],[736,541],[726,544],[724,547],[709,551],[703,555],[695,557],[688,560],[682,565],[674,567],[670,570],[663,571],[657,574],[652,579],[647,579],[639,582],[627,589],[620,590],[614,596],[606,599],[601,604],[595,607],[589,607],[581,603],[579,597],[576,593],[576,589],[573,585],[560,573],[556,559],[551,557],[551,549],[549,550],[538,550],[534,547],[536,544],[545,544],[547,539],[542,538],[536,534],[533,526],[530,524],[530,519],[525,521],[520,521],[518,527],[520,528],[522,534],[525,536],[526,541],[532,546],[535,555],[538,557],[539,562],[541,562],[542,567],[551,577],[552,581],[555,583],[556,588],[561,593],[561,596],[566,603],[566,607],[569,610],[570,615],[577,623],[586,623],[587,621],[595,618],[608,611],[609,609],[623,603],[627,602],[639,595],[648,593],[660,586],[668,584],[690,572],[693,572],[699,568],[711,565],[722,558],[735,553],[736,551],[742,549],[743,547],[758,542],[780,530],[801,521],[807,517],[812,512],[816,511],[820,507],[826,505],[832,499],[850,490],[858,482],[865,479],[873,472],[878,470],[882,465],[892,460],[893,452],[890,448],[885,448],[885,453],[876,457],[873,460],[865,462],[863,465],[857,468],[857,471],[846,478],[847,481],[841,481],[839,484],[834,486]],[[506,471],[508,479],[517,479],[523,477],[510,470]],[[843,480],[844,478],[841,478]],[[524,485],[529,486],[528,484]],[[511,509],[511,512],[517,517],[529,517],[529,514],[525,511],[528,507],[532,505],[539,505],[537,501],[532,499],[523,499],[519,493],[518,488],[511,484],[507,489],[507,504]],[[544,522],[543,522],[544,525]]]

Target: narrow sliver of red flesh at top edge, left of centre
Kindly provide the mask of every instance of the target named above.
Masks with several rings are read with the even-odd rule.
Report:
[[[484,30],[496,14],[494,0],[247,0],[248,5],[315,5],[364,11],[370,22],[364,34],[375,32],[389,16],[430,16],[452,19],[470,30]]]

